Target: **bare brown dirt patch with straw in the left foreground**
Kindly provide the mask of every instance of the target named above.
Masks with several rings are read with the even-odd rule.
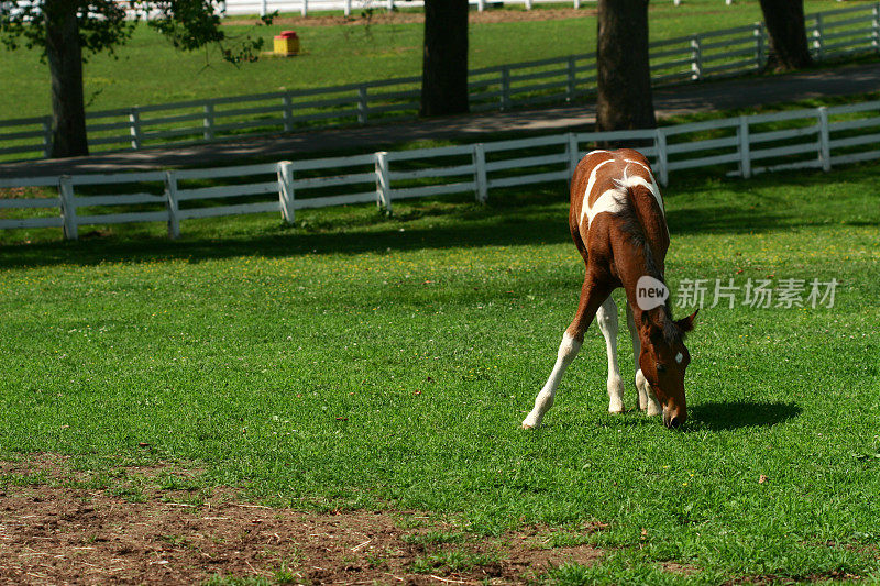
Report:
[[[540,527],[486,539],[411,511],[304,512],[229,488],[162,488],[186,482],[170,465],[127,467],[112,486],[89,488],[95,478],[72,475],[63,458],[35,460],[0,462],[2,584],[517,584],[603,555],[547,549]]]

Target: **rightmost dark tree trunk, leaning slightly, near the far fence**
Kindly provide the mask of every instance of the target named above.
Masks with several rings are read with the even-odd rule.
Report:
[[[806,44],[803,0],[761,0],[770,34],[768,68],[791,70],[813,65]]]

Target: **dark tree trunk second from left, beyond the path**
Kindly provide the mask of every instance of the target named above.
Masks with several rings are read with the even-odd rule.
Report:
[[[426,0],[422,117],[468,112],[468,0]]]

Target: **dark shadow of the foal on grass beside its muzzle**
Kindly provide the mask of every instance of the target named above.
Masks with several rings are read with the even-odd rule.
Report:
[[[740,428],[776,425],[801,414],[793,402],[706,402],[690,408],[693,431],[729,431]]]

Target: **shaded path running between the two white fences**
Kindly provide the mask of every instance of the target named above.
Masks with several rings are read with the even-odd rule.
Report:
[[[659,117],[746,108],[823,96],[880,91],[880,63],[798,74],[747,77],[654,90]],[[254,157],[277,161],[308,153],[355,148],[380,151],[405,141],[458,139],[470,142],[503,132],[568,132],[595,123],[594,104],[491,112],[432,120],[284,134],[184,147],[156,147],[70,159],[0,165],[0,177],[144,170],[186,165],[231,165]]]

